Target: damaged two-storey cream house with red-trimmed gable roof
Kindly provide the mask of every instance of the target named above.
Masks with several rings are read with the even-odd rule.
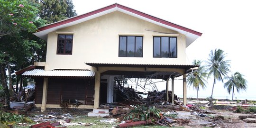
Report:
[[[170,101],[174,78],[183,76],[186,104],[186,73],[198,67],[186,64],[186,47],[200,32],[115,3],[34,34],[47,41],[46,62],[16,74],[35,80],[35,105],[42,111],[60,108],[63,101],[82,102],[78,108],[83,109],[114,102],[118,76],[163,79],[172,90]]]

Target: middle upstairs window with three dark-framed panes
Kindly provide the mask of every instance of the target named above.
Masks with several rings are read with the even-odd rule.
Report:
[[[119,36],[119,57],[143,57],[143,37]]]

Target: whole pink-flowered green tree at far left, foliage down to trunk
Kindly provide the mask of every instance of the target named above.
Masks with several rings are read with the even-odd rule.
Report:
[[[0,80],[6,93],[6,102],[9,106],[9,88],[5,71],[6,69],[9,71],[11,68],[10,63],[14,58],[11,55],[14,52],[16,52],[15,55],[22,54],[18,53],[18,50],[14,49],[15,47],[9,45],[17,45],[19,40],[13,42],[11,40],[23,38],[21,33],[24,31],[29,33],[36,31],[37,27],[34,25],[34,22],[37,18],[37,8],[27,0],[0,0],[0,5]],[[10,80],[11,78],[9,78]]]

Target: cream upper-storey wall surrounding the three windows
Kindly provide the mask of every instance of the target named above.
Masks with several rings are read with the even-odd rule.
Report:
[[[153,58],[153,35],[157,32],[145,29],[174,33],[145,20],[135,18],[119,11],[99,18],[57,30],[73,32],[72,55],[56,55],[57,33],[48,34],[46,70],[53,69],[89,69],[84,63],[118,64],[186,64],[185,36],[178,36],[178,58]],[[143,36],[143,57],[119,57],[119,34],[140,33]]]

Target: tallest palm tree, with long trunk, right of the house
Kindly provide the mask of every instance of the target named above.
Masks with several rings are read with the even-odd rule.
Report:
[[[223,82],[223,78],[230,72],[230,61],[225,60],[226,54],[221,49],[214,49],[210,51],[209,58],[207,59],[207,67],[209,75],[213,75],[213,85],[211,91],[211,99],[213,94],[214,85],[216,80]]]

